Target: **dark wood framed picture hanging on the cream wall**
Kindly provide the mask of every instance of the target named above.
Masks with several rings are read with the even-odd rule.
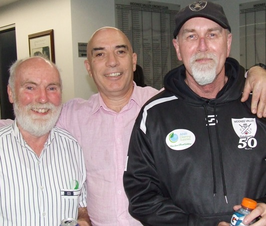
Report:
[[[29,56],[46,55],[53,63],[54,40],[53,29],[28,35]]]

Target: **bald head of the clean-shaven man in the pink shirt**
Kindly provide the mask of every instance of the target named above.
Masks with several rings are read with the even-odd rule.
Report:
[[[109,100],[131,96],[136,63],[137,54],[121,30],[102,27],[91,36],[84,64],[107,106]]]

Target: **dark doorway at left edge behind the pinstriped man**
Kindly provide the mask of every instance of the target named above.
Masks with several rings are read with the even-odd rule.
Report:
[[[14,119],[13,107],[8,100],[7,83],[9,78],[8,69],[12,62],[17,59],[15,27],[0,30],[0,118]]]

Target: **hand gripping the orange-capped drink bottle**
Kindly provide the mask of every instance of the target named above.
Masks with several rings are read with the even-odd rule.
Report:
[[[233,209],[237,211],[241,206],[234,206]],[[251,226],[266,226],[266,204],[265,203],[258,203],[257,207],[249,214],[247,215],[244,220],[243,224],[248,225],[251,223],[254,219],[261,217],[259,221],[252,224]]]

